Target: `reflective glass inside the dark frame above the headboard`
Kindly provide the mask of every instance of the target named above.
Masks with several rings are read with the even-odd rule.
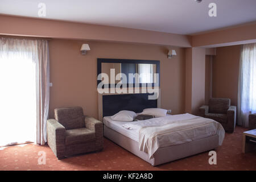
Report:
[[[128,83],[149,84],[157,82],[154,74],[157,73],[156,64],[101,63],[101,73],[106,73],[109,76],[109,80],[110,69],[115,69],[115,77],[118,73],[124,73],[127,77]],[[129,73],[133,74],[133,77],[129,77]],[[115,84],[119,81],[120,80],[115,80]],[[104,84],[108,83],[104,82]]]

